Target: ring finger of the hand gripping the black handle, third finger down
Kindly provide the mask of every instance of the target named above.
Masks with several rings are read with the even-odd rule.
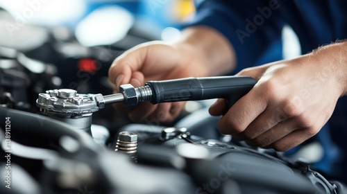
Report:
[[[294,118],[289,118],[281,123],[278,123],[259,136],[256,136],[254,139],[246,140],[246,143],[248,143],[248,145],[255,145],[265,148],[271,143],[282,139],[284,136],[287,136],[296,129],[296,122],[294,121]]]

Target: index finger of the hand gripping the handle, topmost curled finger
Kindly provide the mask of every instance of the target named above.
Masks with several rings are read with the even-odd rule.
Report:
[[[256,86],[240,98],[219,121],[223,134],[238,134],[266,109],[266,101],[257,94]]]

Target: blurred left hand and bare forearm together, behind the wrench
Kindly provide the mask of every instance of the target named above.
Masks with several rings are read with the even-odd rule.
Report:
[[[149,80],[216,76],[230,71],[232,48],[224,37],[208,27],[194,27],[183,33],[174,44],[149,42],[140,44],[119,56],[109,69],[109,79],[119,86],[130,83],[140,87]],[[185,103],[141,103],[130,109],[133,121],[158,119],[173,121]]]

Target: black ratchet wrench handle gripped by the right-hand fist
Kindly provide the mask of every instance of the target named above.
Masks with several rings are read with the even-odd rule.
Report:
[[[257,80],[248,76],[217,76],[149,81],[146,85],[153,92],[152,104],[226,98],[231,107],[256,83]]]

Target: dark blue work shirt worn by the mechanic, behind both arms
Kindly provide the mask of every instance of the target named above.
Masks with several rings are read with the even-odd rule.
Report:
[[[302,54],[347,37],[346,0],[200,0],[196,1],[196,8],[196,17],[189,26],[215,28],[235,48],[237,67],[230,74],[282,60],[285,25],[298,35]],[[347,182],[346,127],[347,99],[342,97],[330,121],[312,138],[324,148],[323,159],[314,165],[344,182]]]

